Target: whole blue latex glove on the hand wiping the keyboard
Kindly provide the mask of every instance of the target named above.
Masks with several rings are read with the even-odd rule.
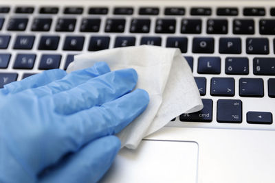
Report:
[[[0,182],[97,182],[120,149],[113,136],[148,104],[133,69],[98,62],[0,90]],[[131,93],[130,93],[131,92]]]

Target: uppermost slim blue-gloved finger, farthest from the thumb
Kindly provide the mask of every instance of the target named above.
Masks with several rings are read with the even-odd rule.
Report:
[[[87,80],[90,80],[91,78],[98,77],[98,75],[104,75],[105,73],[109,72],[110,68],[107,63],[96,62],[96,64],[94,64],[94,66],[92,67],[74,71],[72,73],[67,74],[61,80],[56,80],[54,82],[51,82],[50,84],[41,86],[39,88],[34,88],[32,90],[25,90],[25,92],[30,93],[30,95],[36,95],[38,97],[52,95],[55,93],[62,92],[64,90],[74,88],[79,84],[87,82]]]

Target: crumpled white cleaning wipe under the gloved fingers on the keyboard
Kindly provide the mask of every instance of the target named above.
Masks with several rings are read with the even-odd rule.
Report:
[[[118,134],[122,147],[135,149],[142,138],[171,119],[203,108],[197,84],[179,49],[143,45],[86,53],[75,56],[67,72],[85,69],[95,62],[107,62],[111,71],[135,69],[136,88],[146,90],[150,97],[144,113]]]

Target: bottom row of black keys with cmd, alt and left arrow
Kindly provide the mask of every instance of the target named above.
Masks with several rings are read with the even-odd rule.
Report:
[[[181,114],[180,121],[187,122],[212,122],[212,99],[202,99],[203,109],[199,112]],[[219,123],[241,123],[243,103],[238,99],[219,99],[217,101],[217,122]],[[249,111],[246,113],[247,122],[250,124],[272,124],[271,112]],[[175,121],[175,120],[173,120]]]

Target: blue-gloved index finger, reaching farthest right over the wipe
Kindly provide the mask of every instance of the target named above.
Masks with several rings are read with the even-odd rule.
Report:
[[[148,101],[148,93],[137,89],[102,106],[67,116],[60,124],[64,129],[58,129],[63,142],[59,154],[76,151],[96,138],[117,134],[146,109]]]

